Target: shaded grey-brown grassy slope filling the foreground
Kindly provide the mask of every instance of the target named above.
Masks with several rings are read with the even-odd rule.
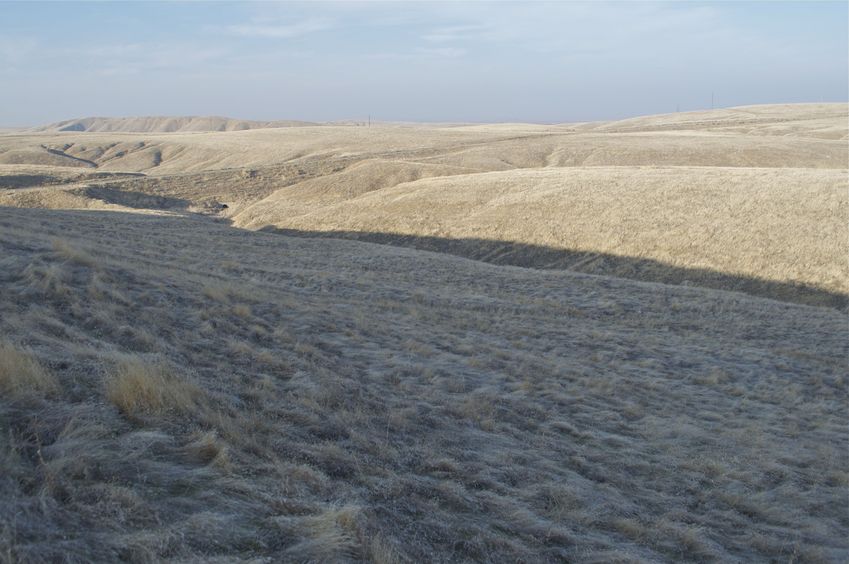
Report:
[[[0,286],[6,560],[849,558],[836,310],[8,207]]]

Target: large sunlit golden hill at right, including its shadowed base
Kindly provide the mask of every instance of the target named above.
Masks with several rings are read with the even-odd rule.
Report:
[[[345,174],[320,181],[341,190]],[[320,194],[304,182],[233,220],[816,305],[849,295],[844,170],[550,167]]]

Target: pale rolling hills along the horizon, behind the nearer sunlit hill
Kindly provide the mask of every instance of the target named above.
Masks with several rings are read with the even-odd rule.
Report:
[[[436,161],[479,171],[543,166],[846,168],[846,104],[759,106],[559,126],[325,125],[245,131],[12,132],[0,164],[65,163],[155,175],[296,160]],[[153,118],[137,118],[139,120]],[[158,118],[157,118],[158,119]],[[187,118],[197,119],[197,118]],[[158,122],[157,122],[158,123]]]

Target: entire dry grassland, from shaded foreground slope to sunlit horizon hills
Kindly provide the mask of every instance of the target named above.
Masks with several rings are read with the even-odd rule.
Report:
[[[846,561],[845,131],[0,135],[0,560]]]

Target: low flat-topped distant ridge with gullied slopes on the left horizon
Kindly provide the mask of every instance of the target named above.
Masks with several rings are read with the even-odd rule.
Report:
[[[218,116],[144,116],[144,117],[86,117],[34,127],[30,131],[44,132],[123,132],[178,133],[193,131],[243,131],[272,127],[316,125],[306,121],[250,121]]]

